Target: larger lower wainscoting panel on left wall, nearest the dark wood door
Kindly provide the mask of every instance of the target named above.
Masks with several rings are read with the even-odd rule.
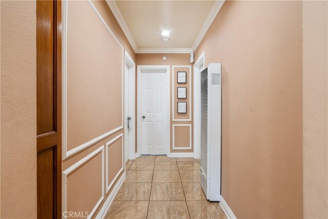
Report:
[[[89,218],[94,214],[105,197],[104,175],[104,146],[63,171],[64,217],[65,212],[80,212]]]

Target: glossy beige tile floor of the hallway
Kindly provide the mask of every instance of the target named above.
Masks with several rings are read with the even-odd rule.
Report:
[[[142,155],[126,170],[105,218],[227,218],[217,202],[206,200],[199,160]]]

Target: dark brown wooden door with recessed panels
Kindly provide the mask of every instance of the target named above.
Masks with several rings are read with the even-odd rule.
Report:
[[[36,1],[37,217],[61,218],[61,2]]]

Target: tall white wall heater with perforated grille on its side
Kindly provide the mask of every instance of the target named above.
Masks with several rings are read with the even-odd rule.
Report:
[[[201,188],[210,201],[220,201],[221,186],[221,64],[200,72]]]

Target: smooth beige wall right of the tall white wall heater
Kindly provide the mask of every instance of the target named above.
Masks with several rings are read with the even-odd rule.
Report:
[[[239,218],[300,218],[302,2],[226,1],[195,53],[222,64],[222,196]]]

